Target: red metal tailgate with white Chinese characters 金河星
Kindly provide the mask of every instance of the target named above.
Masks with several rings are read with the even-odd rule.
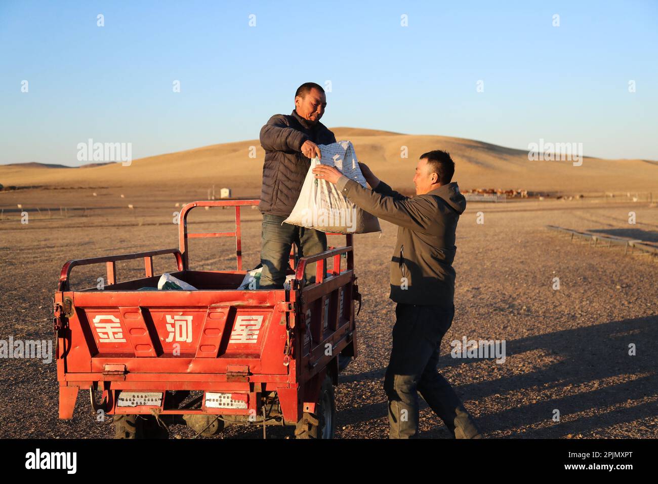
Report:
[[[72,308],[58,348],[68,381],[116,379],[106,368],[114,363],[125,365],[123,379],[141,373],[225,375],[236,364],[254,374],[288,373],[282,358],[286,311],[278,304],[284,290],[62,294]]]

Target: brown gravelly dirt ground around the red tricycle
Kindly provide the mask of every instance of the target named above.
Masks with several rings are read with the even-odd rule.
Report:
[[[51,338],[51,303],[64,261],[176,247],[176,203],[204,195],[205,190],[190,189],[174,198],[165,188],[124,198],[120,190],[101,189],[0,194],[0,340]],[[22,208],[16,208],[18,203]],[[20,223],[20,211],[28,211],[28,224]],[[636,225],[629,225],[629,211],[636,212]],[[477,223],[478,212],[484,224]],[[230,211],[200,215],[199,227],[230,230]],[[223,225],[213,225],[219,220]],[[251,268],[259,261],[261,217],[245,209],[243,221],[245,266]],[[658,241],[658,208],[647,202],[469,203],[457,231],[455,320],[443,339],[441,373],[486,437],[657,438],[658,261],[624,255],[620,248],[570,242],[545,229],[548,224]],[[336,389],[338,438],[388,437],[382,382],[395,322],[388,263],[396,229],[385,222],[382,229],[382,236],[355,236],[363,294],[360,355],[340,375]],[[341,239],[329,242],[337,246]],[[233,249],[226,240],[194,240],[191,265],[232,268]],[[140,266],[118,265],[119,280],[139,277]],[[155,269],[173,269],[173,263],[156,259]],[[103,270],[74,273],[79,274],[74,286],[95,285]],[[555,277],[559,290],[553,289]],[[505,340],[505,362],[451,358],[450,342],[463,336]],[[636,346],[635,356],[628,354],[629,344]],[[0,375],[0,437],[113,434],[111,419],[97,422],[84,392],[74,417],[58,419],[55,362],[1,359]],[[421,436],[449,437],[422,402],[421,408]],[[559,422],[552,419],[556,409]],[[186,427],[172,429],[192,435]],[[269,428],[268,435],[289,437],[292,430]],[[262,427],[230,427],[218,438],[261,436]]]

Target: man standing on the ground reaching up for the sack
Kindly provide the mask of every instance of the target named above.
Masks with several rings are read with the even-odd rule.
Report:
[[[335,183],[361,209],[399,227],[391,260],[391,294],[395,306],[393,348],[386,369],[389,437],[418,436],[418,395],[458,439],[482,438],[455,390],[437,372],[443,335],[455,314],[455,230],[466,199],[451,183],[455,163],[445,151],[420,155],[416,196],[395,192],[359,163],[368,190],[338,169],[319,165],[316,178]]]

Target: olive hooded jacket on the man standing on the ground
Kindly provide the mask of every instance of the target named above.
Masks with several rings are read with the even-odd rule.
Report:
[[[343,175],[336,186],[361,209],[397,225],[390,298],[403,304],[453,307],[455,230],[466,199],[456,182],[409,198],[380,181],[368,190]]]

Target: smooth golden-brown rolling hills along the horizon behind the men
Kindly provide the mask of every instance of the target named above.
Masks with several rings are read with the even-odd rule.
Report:
[[[584,158],[529,161],[528,151],[475,140],[410,135],[381,130],[332,128],[338,140],[353,142],[359,161],[399,189],[412,190],[418,156],[445,149],[456,163],[463,189],[514,188],[543,192],[658,192],[658,163],[642,159]],[[250,147],[256,157],[250,158]],[[401,158],[403,147],[409,157]],[[252,150],[253,151],[253,150]],[[257,140],[216,144],[121,163],[71,169],[39,163],[0,165],[4,186],[209,186],[232,188],[234,196],[260,193],[265,151]]]

